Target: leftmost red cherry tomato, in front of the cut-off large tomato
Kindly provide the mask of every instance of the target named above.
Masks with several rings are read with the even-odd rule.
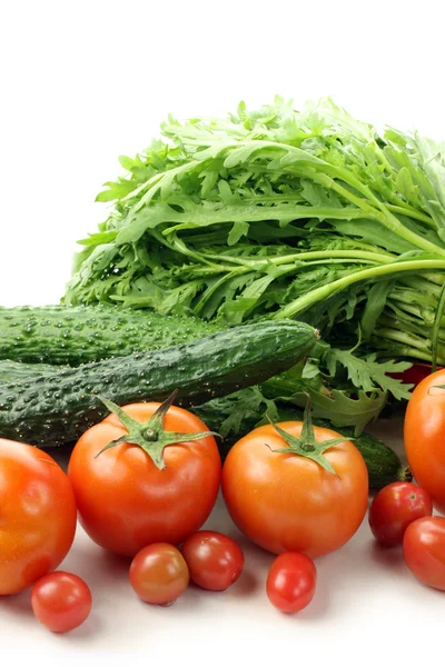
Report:
[[[83,579],[57,571],[36,581],[31,606],[36,618],[52,633],[68,633],[88,618],[92,599]]]

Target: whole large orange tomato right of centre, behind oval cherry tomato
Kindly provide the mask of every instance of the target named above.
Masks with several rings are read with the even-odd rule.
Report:
[[[278,425],[294,437],[300,421]],[[317,441],[340,437],[315,427]],[[303,551],[310,557],[338,549],[357,530],[368,499],[368,475],[348,440],[324,454],[337,475],[295,454],[271,425],[239,440],[222,468],[222,494],[231,518],[254,542],[274,554]]]

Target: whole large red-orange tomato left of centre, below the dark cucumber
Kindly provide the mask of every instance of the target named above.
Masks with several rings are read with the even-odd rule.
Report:
[[[162,438],[175,442],[175,436],[190,434],[192,440],[191,431],[205,431],[205,424],[187,410],[169,407],[166,430],[154,435],[151,426],[146,429],[151,424],[147,420],[159,409],[156,402],[134,404],[121,414],[122,419],[132,418],[130,430],[150,431],[147,441],[140,432],[135,431],[132,440],[129,436],[131,441],[139,438],[146,450],[126,442],[128,429],[109,415],[81,436],[71,454],[68,474],[80,522],[97,544],[117,554],[134,556],[151,542],[180,544],[200,528],[218,494],[221,462],[212,436],[194,441],[182,436],[185,441],[169,445],[164,455],[159,449]],[[99,454],[118,438],[120,444]]]

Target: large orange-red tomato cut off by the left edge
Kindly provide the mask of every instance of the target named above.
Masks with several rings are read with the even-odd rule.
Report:
[[[37,447],[0,439],[0,595],[55,569],[75,532],[75,495],[60,466]]]

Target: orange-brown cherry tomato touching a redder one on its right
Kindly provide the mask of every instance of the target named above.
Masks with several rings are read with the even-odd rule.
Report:
[[[130,584],[150,605],[174,603],[186,590],[189,578],[181,552],[166,542],[144,547],[130,565]]]

